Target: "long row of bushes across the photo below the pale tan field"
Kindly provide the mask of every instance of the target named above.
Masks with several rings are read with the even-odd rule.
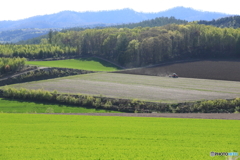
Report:
[[[163,113],[234,113],[240,112],[240,98],[232,100],[208,100],[195,103],[163,104],[140,100],[106,98],[90,95],[66,95],[57,91],[6,88],[0,96],[13,99],[48,101],[98,109],[123,112],[163,112]]]

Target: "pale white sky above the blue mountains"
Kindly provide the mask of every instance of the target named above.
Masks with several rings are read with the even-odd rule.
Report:
[[[84,12],[131,8],[138,12],[159,12],[177,6],[240,15],[239,0],[4,0],[0,4],[0,21],[64,10]]]

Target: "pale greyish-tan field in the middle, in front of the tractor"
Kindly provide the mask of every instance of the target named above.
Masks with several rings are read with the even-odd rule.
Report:
[[[165,103],[240,97],[240,82],[120,73],[93,73],[10,86]]]

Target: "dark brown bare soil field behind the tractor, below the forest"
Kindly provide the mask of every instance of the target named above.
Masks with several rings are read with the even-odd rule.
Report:
[[[180,77],[240,81],[240,60],[202,60],[178,62],[157,67],[129,69],[118,73],[168,76],[177,73]]]

